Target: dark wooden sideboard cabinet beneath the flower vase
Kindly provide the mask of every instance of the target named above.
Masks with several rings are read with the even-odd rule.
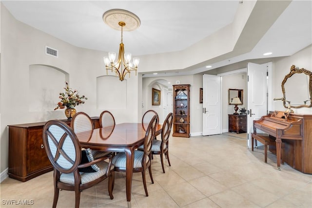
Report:
[[[99,127],[99,117],[91,117],[94,128]],[[62,120],[70,126],[70,121]],[[10,178],[25,182],[53,170],[42,142],[46,122],[9,125]]]

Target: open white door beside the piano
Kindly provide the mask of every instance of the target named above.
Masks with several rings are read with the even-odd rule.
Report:
[[[247,63],[247,146],[251,148],[253,121],[268,113],[268,70],[270,64]]]

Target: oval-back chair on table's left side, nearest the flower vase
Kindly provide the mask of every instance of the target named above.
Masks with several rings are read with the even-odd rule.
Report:
[[[70,126],[74,130],[75,133],[93,130],[92,120],[90,116],[84,112],[76,113],[71,120]],[[97,159],[99,157],[111,154],[112,152],[91,150],[91,153],[93,157]]]

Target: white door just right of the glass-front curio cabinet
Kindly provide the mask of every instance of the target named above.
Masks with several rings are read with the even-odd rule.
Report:
[[[203,135],[221,133],[221,77],[203,75]]]

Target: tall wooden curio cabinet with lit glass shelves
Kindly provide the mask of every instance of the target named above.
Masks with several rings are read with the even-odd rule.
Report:
[[[190,86],[173,85],[173,136],[190,137]]]

